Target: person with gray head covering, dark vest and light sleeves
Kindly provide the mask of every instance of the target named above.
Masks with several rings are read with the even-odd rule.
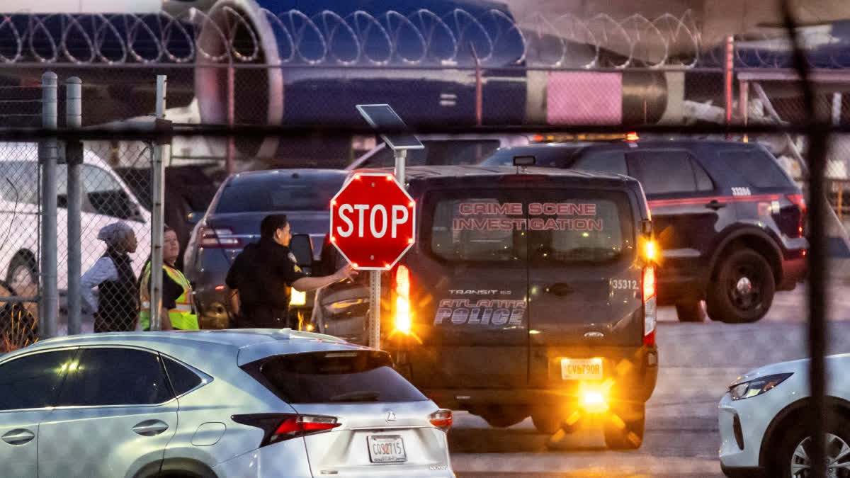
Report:
[[[94,312],[94,332],[126,332],[136,328],[139,306],[136,276],[129,253],[136,252],[133,228],[123,222],[105,226],[98,239],[106,242],[106,253],[82,275],[82,299]],[[95,307],[92,289],[99,298]]]

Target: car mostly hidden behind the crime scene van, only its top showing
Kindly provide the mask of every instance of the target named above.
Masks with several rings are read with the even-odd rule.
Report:
[[[407,151],[408,166],[478,164],[499,148],[529,144],[523,134],[417,134],[425,146]],[[348,171],[363,168],[392,168],[395,157],[386,143],[380,143],[354,160]]]

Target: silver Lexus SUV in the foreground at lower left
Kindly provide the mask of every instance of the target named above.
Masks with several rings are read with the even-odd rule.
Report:
[[[451,412],[392,365],[290,329],[44,340],[0,358],[0,476],[453,476]]]

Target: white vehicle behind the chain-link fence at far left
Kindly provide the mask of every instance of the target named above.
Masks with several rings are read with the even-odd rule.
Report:
[[[68,210],[67,167],[59,164],[56,172],[59,208],[59,291],[68,287]],[[133,227],[138,241],[131,254],[138,275],[150,254],[150,212],[144,209],[122,179],[93,151],[85,151],[80,167],[82,181],[82,272],[106,251],[98,241],[98,231],[118,220]],[[38,285],[40,253],[38,145],[0,143],[0,279],[15,293],[34,296]]]

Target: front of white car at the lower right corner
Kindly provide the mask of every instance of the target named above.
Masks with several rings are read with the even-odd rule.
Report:
[[[826,357],[827,476],[850,476],[850,354]],[[808,477],[809,361],[785,361],[736,378],[718,405],[727,476]]]

